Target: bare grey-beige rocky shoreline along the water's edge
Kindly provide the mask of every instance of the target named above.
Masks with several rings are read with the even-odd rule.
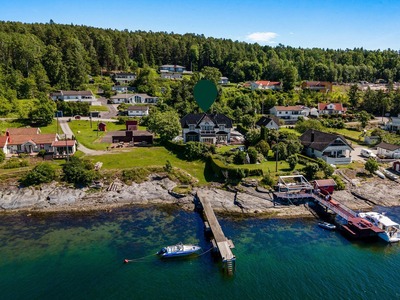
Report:
[[[246,185],[223,190],[217,186],[194,188],[184,197],[169,193],[176,183],[168,177],[152,175],[147,181],[132,185],[115,182],[112,191],[93,191],[89,188],[53,182],[40,188],[20,188],[18,183],[0,188],[2,213],[51,213],[112,210],[127,205],[174,205],[184,210],[194,210],[197,191],[209,195],[216,212],[234,216],[274,218],[313,217],[313,203],[287,204],[274,200],[273,194],[256,186]],[[400,185],[390,181],[368,181],[344,191],[335,191],[334,198],[353,210],[372,210],[375,205],[399,206]]]

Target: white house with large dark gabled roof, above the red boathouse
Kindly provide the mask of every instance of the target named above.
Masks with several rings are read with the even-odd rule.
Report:
[[[351,163],[354,149],[341,135],[308,129],[300,136],[303,151],[310,157],[319,157],[328,164],[347,165]]]

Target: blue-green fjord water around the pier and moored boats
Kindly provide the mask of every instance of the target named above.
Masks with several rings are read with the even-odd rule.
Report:
[[[378,211],[400,222],[399,208]],[[209,249],[194,212],[134,207],[2,216],[0,298],[400,298],[400,244],[350,241],[312,219],[219,219],[236,246],[231,277],[210,252],[174,260],[153,255],[180,241]]]

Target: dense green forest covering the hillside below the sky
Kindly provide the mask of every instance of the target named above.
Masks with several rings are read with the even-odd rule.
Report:
[[[100,29],[88,26],[0,22],[0,72],[18,98],[37,92],[76,89],[101,69],[179,64],[188,70],[216,67],[233,82],[297,80],[398,81],[394,50],[303,49],[260,46],[230,39],[167,32]],[[291,84],[286,88],[290,89]]]

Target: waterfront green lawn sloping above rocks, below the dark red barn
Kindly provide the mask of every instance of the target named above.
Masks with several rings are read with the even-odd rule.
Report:
[[[210,166],[203,160],[186,161],[183,154],[170,151],[164,147],[133,148],[129,152],[117,152],[104,155],[86,156],[93,162],[102,162],[104,169],[127,169],[133,167],[164,166],[169,160],[178,167],[206,184],[215,178]]]

